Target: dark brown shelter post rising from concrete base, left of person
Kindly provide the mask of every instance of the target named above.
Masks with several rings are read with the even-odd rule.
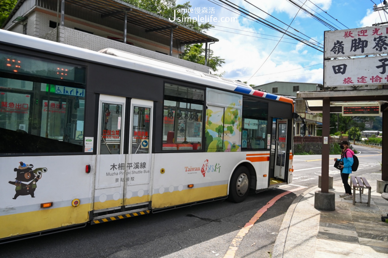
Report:
[[[329,151],[330,151],[330,99],[323,98],[322,106],[322,183],[321,192],[329,193]]]

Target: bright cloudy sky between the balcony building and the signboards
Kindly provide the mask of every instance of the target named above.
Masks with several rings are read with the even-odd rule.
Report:
[[[295,1],[298,2],[299,0]],[[300,1],[298,2],[299,4],[305,2],[305,0]],[[257,7],[260,7],[260,9],[263,9],[266,12],[274,15],[275,17],[282,17],[282,20],[285,16],[289,16],[290,19],[292,19],[298,11],[298,8],[291,5],[287,0],[250,0],[249,2],[253,3]],[[236,3],[236,5],[244,7],[252,13],[260,15],[263,18],[268,18],[268,15],[265,15],[260,10],[256,9],[255,7],[249,5],[248,3],[242,0],[234,1],[234,3]],[[322,9],[327,10],[331,5],[331,0],[314,0],[314,3],[319,5]],[[211,6],[211,3],[207,1],[195,1],[191,2],[191,4],[193,5],[193,7]],[[306,4],[314,10],[322,12],[321,10],[318,10],[317,7],[310,6],[310,2],[307,1]],[[220,40],[215,44],[211,45],[211,50],[214,51],[214,54],[216,56],[225,58],[225,64],[223,64],[222,68],[220,68],[218,71],[225,71],[226,74],[224,75],[224,77],[230,79],[240,78],[239,80],[241,81],[247,81],[249,77],[255,74],[259,67],[265,62],[260,68],[260,70],[255,74],[255,76],[248,81],[249,84],[260,85],[272,81],[322,83],[323,69],[319,68],[322,67],[322,65],[302,68],[303,66],[322,63],[323,55],[315,54],[316,50],[307,47],[303,43],[298,43],[298,41],[287,39],[289,37],[286,36],[282,39],[282,41],[295,42],[298,44],[293,45],[290,43],[279,43],[277,48],[270,55],[279,38],[263,36],[260,34],[253,34],[249,32],[281,36],[280,33],[276,34],[274,31],[268,32],[268,30],[263,31],[263,28],[265,27],[259,25],[257,22],[245,19],[244,17],[230,12],[229,10],[219,6],[216,6],[215,12],[216,17],[238,17],[239,22],[216,22],[213,24],[243,30],[236,31],[233,29],[216,26],[215,29],[220,29],[223,31],[210,29],[207,32],[207,34]],[[306,15],[303,12],[299,12],[298,17],[303,19],[303,17],[306,17]],[[306,17],[305,21],[303,22],[311,21],[313,21],[311,18]],[[295,23],[294,25],[297,26],[298,24]],[[284,26],[284,28],[286,27]],[[262,38],[271,38],[275,41],[264,40],[240,34],[233,34],[230,32],[253,35]],[[315,38],[315,40],[317,40],[317,38]],[[265,61],[268,55],[270,55],[270,57],[267,61]]]

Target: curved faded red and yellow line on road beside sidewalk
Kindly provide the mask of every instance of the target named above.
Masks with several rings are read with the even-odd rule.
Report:
[[[223,256],[223,258],[234,258],[234,256],[236,255],[237,249],[239,249],[241,241],[244,239],[244,236],[246,236],[246,234],[248,234],[249,229],[251,229],[251,227],[253,227],[255,222],[268,210],[268,208],[270,208],[272,205],[274,205],[274,203],[277,200],[279,200],[282,196],[284,196],[286,194],[289,194],[289,193],[292,193],[295,191],[299,191],[299,190],[305,189],[305,188],[306,187],[302,186],[302,187],[298,187],[298,188],[286,191],[284,193],[278,194],[277,196],[272,198],[270,201],[268,201],[268,203],[266,205],[264,205],[260,210],[258,210],[257,213],[249,220],[249,222],[247,224],[245,224],[245,226],[240,229],[240,231],[237,233],[237,236],[232,240],[232,243],[230,243],[229,249],[226,252],[225,256]]]

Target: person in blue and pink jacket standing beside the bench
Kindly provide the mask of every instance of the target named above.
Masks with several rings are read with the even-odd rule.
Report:
[[[350,150],[348,141],[341,141],[340,148],[342,149],[340,162],[343,162],[343,165],[338,165],[341,169],[341,178],[343,182],[343,186],[345,187],[345,193],[340,194],[340,197],[345,200],[353,199],[352,189],[348,183],[349,174],[352,173],[352,165],[353,165],[353,155],[354,152]],[[334,158],[334,161],[337,161],[337,158]]]

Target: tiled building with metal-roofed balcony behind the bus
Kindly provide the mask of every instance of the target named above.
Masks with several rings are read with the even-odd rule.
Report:
[[[206,73],[209,67],[179,57],[187,44],[218,41],[120,0],[19,0],[2,28],[94,51],[115,48]]]

